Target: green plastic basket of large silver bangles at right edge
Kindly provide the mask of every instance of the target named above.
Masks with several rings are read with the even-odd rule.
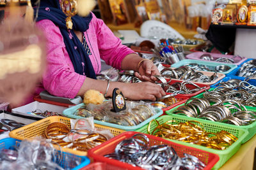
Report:
[[[204,93],[203,94],[198,94],[198,96],[195,96],[196,98],[202,98],[204,97]],[[190,101],[189,101],[190,102]],[[174,114],[173,112],[175,110],[177,110],[177,108],[179,108],[180,106],[184,106],[185,104],[180,104],[179,106],[176,106],[170,110],[167,110],[165,111],[166,115],[176,115]],[[256,112],[256,108],[254,107],[250,107],[250,106],[245,106],[245,108],[248,110],[248,111],[253,111],[253,112]],[[243,110],[243,108],[242,108]],[[231,112],[234,113],[236,110],[234,109],[231,109]],[[189,119],[189,120],[196,120],[196,121],[200,121],[200,122],[212,122],[211,120],[205,120],[205,119],[202,119],[202,118],[191,118],[191,117],[186,117],[185,115],[177,115],[178,117],[180,118],[186,118],[186,119]],[[249,133],[247,134],[246,138],[243,139],[242,143],[246,143],[246,141],[250,140],[255,134],[256,134],[256,121],[253,122],[252,124],[250,125],[231,125],[231,124],[225,124],[225,123],[221,123],[221,122],[214,122],[214,124],[218,124],[218,125],[225,125],[227,127],[232,127],[232,128],[237,128],[237,129],[244,129],[246,131],[248,131]]]

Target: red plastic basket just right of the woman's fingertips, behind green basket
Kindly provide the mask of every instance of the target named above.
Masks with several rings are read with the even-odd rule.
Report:
[[[182,83],[183,81],[182,80],[174,80],[172,79],[172,81],[169,83],[170,85],[173,85],[174,83]],[[210,86],[209,85],[205,85],[204,83],[195,83],[196,85],[198,85],[199,87],[205,87],[204,89],[201,89],[201,90],[198,90],[197,92],[194,92],[193,94],[178,94],[177,96],[182,96],[182,97],[193,97],[193,96],[196,96],[202,92],[204,92],[205,90],[208,90],[210,89]],[[196,89],[196,87],[194,85],[186,85],[186,87],[189,89],[189,90],[193,90],[193,89]],[[171,94],[171,93],[166,93],[166,94]]]

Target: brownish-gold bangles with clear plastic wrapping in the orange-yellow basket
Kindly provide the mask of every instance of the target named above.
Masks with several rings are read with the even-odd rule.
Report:
[[[64,148],[72,148],[73,150],[80,150],[86,152],[95,146],[98,146],[108,139],[99,133],[90,132],[83,129],[69,129],[67,125],[60,122],[49,124],[44,132],[44,136],[47,139],[51,139],[53,143]],[[64,141],[64,138],[68,138],[68,141]]]

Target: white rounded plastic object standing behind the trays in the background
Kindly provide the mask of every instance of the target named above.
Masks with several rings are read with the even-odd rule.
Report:
[[[179,32],[158,20],[147,20],[140,28],[140,35],[145,38],[172,38],[185,39]]]

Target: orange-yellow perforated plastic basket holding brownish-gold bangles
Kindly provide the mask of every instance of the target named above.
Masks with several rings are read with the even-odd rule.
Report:
[[[63,124],[66,124],[68,127],[71,127],[70,125],[70,118],[66,117],[47,117],[42,120],[39,120],[33,124],[26,125],[24,127],[20,127],[19,129],[15,129],[10,132],[9,136],[11,138],[24,140],[27,138],[35,138],[36,136],[42,136],[45,132],[45,129],[47,126],[54,122],[61,122]],[[115,129],[113,127],[106,127],[104,125],[97,125],[95,124],[95,128],[97,129],[108,129],[113,136],[117,136],[118,134],[121,134],[122,130]],[[58,148],[58,147],[57,147]],[[62,148],[64,152],[72,153],[74,155],[81,155],[84,156],[87,154],[87,152],[82,152],[79,150],[72,150],[70,148]]]

